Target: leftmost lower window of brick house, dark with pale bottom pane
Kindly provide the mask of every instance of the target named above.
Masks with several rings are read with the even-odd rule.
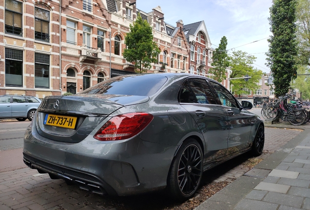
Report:
[[[22,87],[23,52],[5,48],[5,86]]]

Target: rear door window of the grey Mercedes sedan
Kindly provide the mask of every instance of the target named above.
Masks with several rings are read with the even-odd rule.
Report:
[[[212,90],[204,79],[190,79],[189,85],[198,104],[217,104]]]

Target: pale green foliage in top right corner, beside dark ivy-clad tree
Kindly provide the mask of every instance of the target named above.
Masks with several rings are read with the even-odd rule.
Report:
[[[298,0],[296,18],[298,62],[310,66],[310,0]]]

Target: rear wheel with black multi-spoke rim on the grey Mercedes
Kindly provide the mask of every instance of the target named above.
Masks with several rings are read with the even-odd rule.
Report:
[[[169,194],[184,201],[194,196],[203,173],[203,155],[199,143],[185,140],[173,159],[168,176]]]

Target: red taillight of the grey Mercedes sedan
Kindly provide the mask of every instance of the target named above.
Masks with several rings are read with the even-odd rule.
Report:
[[[153,115],[143,112],[117,115],[105,123],[94,138],[101,141],[129,139],[142,131],[152,120]]]

